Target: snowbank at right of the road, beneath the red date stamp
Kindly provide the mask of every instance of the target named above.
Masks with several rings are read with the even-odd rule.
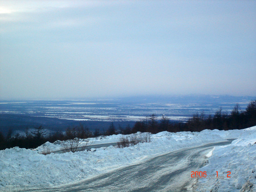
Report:
[[[232,131],[235,133],[237,130]],[[256,126],[240,130],[240,136],[232,144],[215,147],[209,163],[199,171],[214,175],[214,179],[198,178],[196,191],[256,191]]]

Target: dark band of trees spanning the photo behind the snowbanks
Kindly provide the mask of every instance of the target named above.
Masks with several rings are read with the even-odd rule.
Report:
[[[92,132],[87,127],[80,125],[78,127],[69,127],[65,132],[56,131],[52,134],[46,135],[44,128],[39,126],[35,127],[34,132],[29,133],[27,130],[25,136],[21,136],[18,133],[13,135],[12,130],[9,130],[6,136],[0,132],[0,150],[11,147],[31,149],[44,144],[46,141],[53,143],[57,140],[63,141],[73,138],[90,138],[97,136],[109,136],[113,134],[128,135],[131,133],[137,133],[138,131],[153,134],[162,131],[174,133],[180,131],[199,132],[205,129],[244,129],[255,125],[256,100],[250,102],[245,110],[241,110],[239,104],[236,104],[230,114],[223,113],[222,108],[220,108],[213,116],[206,116],[203,112],[200,114],[196,113],[187,122],[171,122],[170,119],[165,116],[158,119],[155,114],[152,114],[145,117],[145,119],[142,121],[137,121],[133,127],[130,127],[129,125],[127,127],[115,127],[114,123],[112,122],[108,129],[103,131],[100,131],[100,129],[95,129]]]

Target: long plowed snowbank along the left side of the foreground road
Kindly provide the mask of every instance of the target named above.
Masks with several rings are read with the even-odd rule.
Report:
[[[107,141],[112,142],[120,136],[110,136]],[[132,147],[110,146],[63,154],[41,155],[37,151],[18,147],[2,150],[0,190],[55,186],[80,181],[174,150],[225,141],[218,135],[212,135],[210,130],[201,133],[162,132],[152,135],[151,139],[150,143],[140,143]],[[51,145],[46,143],[48,147]]]

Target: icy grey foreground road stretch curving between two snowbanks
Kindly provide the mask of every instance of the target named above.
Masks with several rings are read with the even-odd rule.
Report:
[[[148,161],[115,169],[76,184],[47,189],[19,190],[22,192],[175,192],[187,191],[195,181],[191,171],[204,165],[205,155],[214,146],[231,141],[206,144],[169,152]]]

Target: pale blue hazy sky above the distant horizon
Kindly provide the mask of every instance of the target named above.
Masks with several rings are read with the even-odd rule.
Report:
[[[256,96],[256,1],[0,1],[0,99]]]

